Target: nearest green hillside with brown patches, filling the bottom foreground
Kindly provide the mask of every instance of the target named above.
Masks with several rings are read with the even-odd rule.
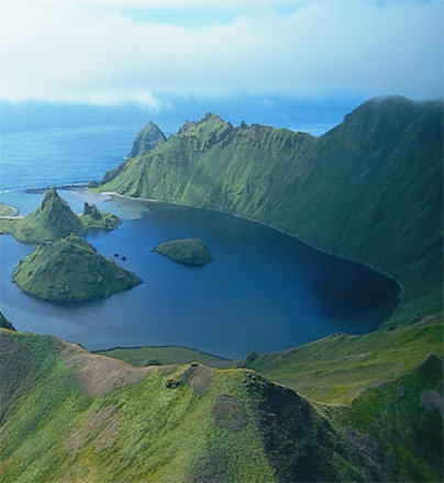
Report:
[[[7,482],[378,481],[309,402],[245,369],[132,368],[0,330]]]

